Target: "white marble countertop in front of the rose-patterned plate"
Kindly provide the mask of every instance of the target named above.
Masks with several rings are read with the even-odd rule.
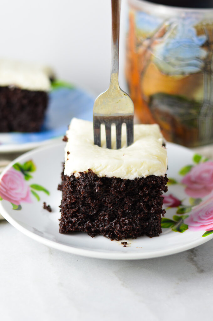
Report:
[[[203,320],[213,306],[213,239],[172,256],[85,258],[0,222],[1,320]]]

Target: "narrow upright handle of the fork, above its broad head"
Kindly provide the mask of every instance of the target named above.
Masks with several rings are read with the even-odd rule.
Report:
[[[111,6],[112,6],[111,77],[112,77],[112,74],[117,74],[118,76],[120,4],[121,4],[121,0],[111,0]]]

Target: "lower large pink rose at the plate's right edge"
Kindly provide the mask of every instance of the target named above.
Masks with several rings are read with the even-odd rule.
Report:
[[[184,223],[193,231],[213,230],[213,202],[194,209]]]

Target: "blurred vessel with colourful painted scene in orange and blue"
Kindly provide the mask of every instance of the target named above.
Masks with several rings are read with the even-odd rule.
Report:
[[[188,147],[213,143],[213,9],[128,4],[125,73],[140,122]]]

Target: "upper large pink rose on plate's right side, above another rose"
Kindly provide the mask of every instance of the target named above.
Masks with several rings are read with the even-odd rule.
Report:
[[[194,166],[181,183],[186,185],[185,192],[191,197],[208,195],[213,189],[213,162],[207,161]]]

